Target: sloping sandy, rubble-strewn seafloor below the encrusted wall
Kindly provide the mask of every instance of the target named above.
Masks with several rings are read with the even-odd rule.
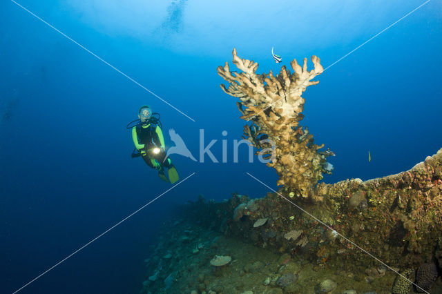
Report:
[[[164,224],[145,260],[140,293],[392,293],[396,273],[351,259],[278,253],[210,230],[183,215]],[[230,256],[212,266],[215,255]],[[372,259],[367,255],[367,259]],[[398,270],[398,268],[396,268]],[[430,293],[442,293],[439,277]],[[401,292],[416,293],[409,285]]]

